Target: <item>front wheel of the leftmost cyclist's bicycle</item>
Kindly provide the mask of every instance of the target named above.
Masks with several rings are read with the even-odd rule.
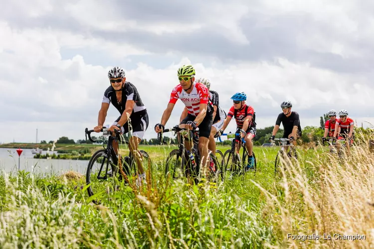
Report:
[[[86,184],[89,185],[87,192],[89,196],[105,192],[107,187],[113,183],[113,175],[117,172],[117,166],[111,156],[104,149],[96,151],[90,158],[86,170]],[[108,171],[111,171],[108,174]],[[97,174],[97,175],[96,175]]]

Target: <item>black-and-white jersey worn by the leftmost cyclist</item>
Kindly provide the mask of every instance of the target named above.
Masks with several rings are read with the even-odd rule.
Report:
[[[136,113],[137,115],[142,116],[147,113],[146,107],[144,106],[142,99],[140,98],[138,90],[132,83],[128,81],[125,82],[125,86],[122,89],[122,100],[120,103],[117,101],[116,91],[112,86],[109,86],[105,91],[102,103],[112,103],[112,105],[122,115],[126,108],[126,101],[128,100],[135,101],[135,105],[131,115]]]

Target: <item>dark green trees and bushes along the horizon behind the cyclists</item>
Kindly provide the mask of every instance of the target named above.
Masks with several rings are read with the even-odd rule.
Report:
[[[325,123],[329,119],[327,114],[324,114],[320,117],[320,126],[305,126],[302,128],[302,136],[301,141],[302,143],[310,143],[318,141],[321,141],[321,138],[323,137],[323,134],[325,132]],[[258,128],[256,132],[256,136],[253,139],[254,145],[262,145],[264,143],[269,143],[269,138],[271,137],[271,133],[273,131],[274,126],[268,126],[265,128]],[[355,130],[361,129],[362,131],[365,131],[363,127],[355,127]],[[370,128],[368,128],[371,130]],[[283,135],[283,129],[279,128],[277,134],[275,135],[276,138],[282,137]],[[129,139],[130,134],[125,134],[124,137],[126,140]],[[104,137],[102,135],[100,136],[91,136],[92,139],[96,140],[94,144],[103,144],[108,142],[108,138]],[[177,137],[169,137],[169,136],[163,136],[163,139],[168,144],[178,144]],[[217,144],[231,144],[231,140],[226,139],[220,143],[219,141],[216,141]],[[47,143],[45,140],[41,140],[40,143]],[[53,141],[49,141],[48,143],[53,143]],[[69,139],[67,136],[60,137],[56,143],[76,143],[76,144],[92,144],[93,142],[89,139],[78,139],[77,141],[74,141],[74,139]],[[160,145],[161,142],[158,138],[151,138],[149,140],[143,139],[140,144],[146,144],[146,145]]]

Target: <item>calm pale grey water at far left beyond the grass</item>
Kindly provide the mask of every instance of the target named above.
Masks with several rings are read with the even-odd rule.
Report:
[[[36,159],[31,153],[32,149],[23,149],[20,156],[20,170],[42,174],[62,174],[68,170],[73,170],[85,174],[88,160],[70,159]],[[47,151],[42,151],[46,154]],[[57,154],[57,152],[54,152]],[[51,154],[51,151],[49,151]],[[6,173],[18,170],[18,154],[16,149],[0,148],[0,170]]]

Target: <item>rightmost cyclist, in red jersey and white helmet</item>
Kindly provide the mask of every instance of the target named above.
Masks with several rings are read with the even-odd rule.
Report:
[[[338,140],[349,139],[348,145],[351,145],[355,136],[353,132],[355,122],[351,118],[348,118],[346,110],[339,112],[339,118],[335,124],[334,137],[337,137]]]

